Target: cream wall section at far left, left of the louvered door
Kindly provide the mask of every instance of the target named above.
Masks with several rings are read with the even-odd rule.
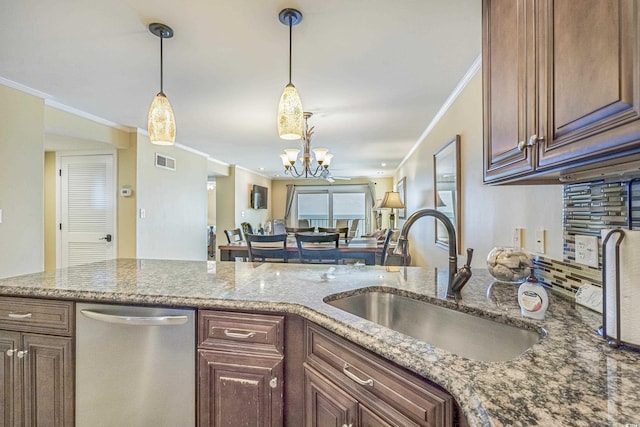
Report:
[[[44,269],[44,103],[0,85],[0,277]]]

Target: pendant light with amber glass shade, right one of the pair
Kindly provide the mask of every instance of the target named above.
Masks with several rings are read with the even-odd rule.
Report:
[[[303,133],[302,101],[291,83],[291,28],[302,21],[302,13],[296,9],[283,9],[280,22],[289,26],[289,83],[285,86],[278,104],[278,135],[287,140],[301,139]]]

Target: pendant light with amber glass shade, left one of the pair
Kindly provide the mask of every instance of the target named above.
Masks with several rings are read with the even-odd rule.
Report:
[[[173,108],[162,90],[162,39],[173,37],[173,30],[159,23],[149,24],[149,31],[160,37],[160,92],[149,107],[148,131],[151,143],[157,145],[173,145],[176,140],[176,119]]]

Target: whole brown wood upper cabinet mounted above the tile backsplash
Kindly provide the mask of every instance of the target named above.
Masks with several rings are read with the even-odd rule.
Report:
[[[638,3],[483,0],[486,183],[640,157]]]

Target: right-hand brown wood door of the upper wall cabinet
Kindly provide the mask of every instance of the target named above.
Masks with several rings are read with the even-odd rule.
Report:
[[[540,2],[539,169],[640,152],[639,9],[633,0]]]

